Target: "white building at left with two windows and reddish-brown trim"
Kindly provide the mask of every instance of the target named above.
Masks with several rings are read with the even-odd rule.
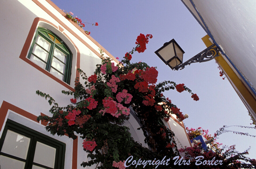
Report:
[[[51,116],[51,106],[36,91],[68,105],[72,97],[61,91],[74,91],[77,68],[92,75],[101,63],[99,49],[118,61],[50,0],[1,0],[0,15],[1,169],[83,168],[83,139],[53,136],[46,123],[36,121]],[[147,146],[135,115],[125,125]],[[166,126],[176,134],[178,148],[191,146],[182,122],[172,117]]]

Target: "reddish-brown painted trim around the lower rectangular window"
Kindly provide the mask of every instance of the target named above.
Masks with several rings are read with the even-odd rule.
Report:
[[[6,118],[8,110],[14,111],[15,113],[17,113],[19,115],[22,115],[28,119],[31,119],[31,120],[39,123],[36,120],[37,119],[36,115],[33,115],[33,114],[29,113],[28,111],[18,108],[6,101],[3,101],[3,103],[0,107],[0,117],[1,117],[0,118],[0,130],[2,130],[2,128],[4,127],[4,119]],[[41,115],[44,115],[44,114],[41,113]],[[43,122],[43,123],[46,123],[46,122]],[[41,124],[43,124],[43,123],[41,122]],[[44,125],[44,126],[46,126],[46,125]],[[73,140],[72,169],[77,169],[77,147],[78,147],[78,137],[75,140]]]

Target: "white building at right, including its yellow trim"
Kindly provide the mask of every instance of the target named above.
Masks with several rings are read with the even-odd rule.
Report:
[[[221,50],[220,68],[256,119],[256,2],[253,0],[181,0]]]

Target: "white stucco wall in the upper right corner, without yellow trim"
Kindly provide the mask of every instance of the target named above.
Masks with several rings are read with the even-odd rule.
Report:
[[[256,87],[256,1],[193,0],[213,38]]]

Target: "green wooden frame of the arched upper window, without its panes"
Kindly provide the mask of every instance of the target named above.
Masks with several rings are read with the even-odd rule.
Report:
[[[46,34],[50,34],[54,37],[54,40],[52,40],[52,38],[48,37]],[[57,69],[55,69],[54,67],[52,67],[52,59],[53,59],[53,54],[54,54],[54,49],[58,49],[60,50],[61,52],[63,52],[64,54],[67,55],[67,58],[66,58],[66,64],[63,62],[63,61],[60,61],[60,59],[56,58],[58,61],[60,61],[61,63],[64,63],[66,66],[65,66],[65,70],[64,70],[64,82],[67,83],[67,84],[70,84],[70,78],[71,78],[71,72],[72,72],[72,52],[71,50],[68,48],[68,46],[66,45],[65,42],[63,42],[63,40],[58,36],[56,35],[55,33],[53,33],[52,31],[44,28],[44,27],[37,27],[37,30],[36,30],[36,34],[33,38],[33,41],[32,41],[32,45],[30,47],[30,50],[28,52],[28,59],[31,58],[31,55],[32,55],[32,51],[34,49],[34,46],[36,44],[36,39],[38,37],[38,35],[40,35],[42,38],[44,38],[46,41],[48,41],[49,43],[51,43],[51,46],[50,46],[50,50],[48,52],[48,60],[47,62],[43,61],[40,57],[36,56],[36,54],[33,54],[36,58],[40,59],[41,61],[43,61],[44,63],[46,63],[46,68],[45,70],[47,70],[49,73],[50,73],[50,70],[51,68],[56,70],[57,72],[61,73],[60,71],[58,71]],[[62,44],[58,44],[55,41],[55,39],[57,39],[59,42],[61,42]],[[38,46],[40,46],[39,44],[36,44]],[[40,46],[41,47],[41,46]],[[44,48],[41,47],[43,50]],[[46,51],[46,50],[45,50]],[[32,61],[33,62],[33,61]],[[35,62],[33,62],[35,63]],[[35,63],[36,64],[36,63]],[[44,69],[44,68],[42,68]],[[52,73],[51,73],[52,74]],[[54,75],[53,75],[54,76]],[[58,78],[58,77],[57,77]],[[60,79],[62,81],[62,79]]]

